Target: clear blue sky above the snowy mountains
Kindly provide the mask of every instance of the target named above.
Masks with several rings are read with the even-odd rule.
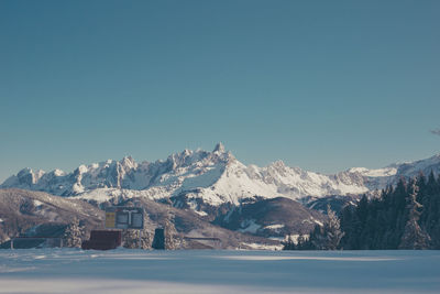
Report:
[[[440,1],[0,1],[0,181],[165,159],[332,173],[440,152]]]

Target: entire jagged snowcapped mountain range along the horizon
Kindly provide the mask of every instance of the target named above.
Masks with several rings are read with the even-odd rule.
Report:
[[[440,173],[440,154],[430,159],[393,164],[380,170],[354,167],[333,175],[286,166],[282,161],[265,167],[244,165],[219,143],[212,152],[184,150],[165,161],[136,163],[132,157],[80,165],[72,173],[48,173],[24,168],[0,188],[42,190],[59,196],[105,202],[113,197],[147,197],[161,200],[185,196],[198,210],[200,202],[210,206],[233,205],[253,197],[355,195],[384,188],[400,176]]]

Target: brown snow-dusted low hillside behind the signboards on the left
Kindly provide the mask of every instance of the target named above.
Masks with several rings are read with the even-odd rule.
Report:
[[[118,205],[125,206],[135,202],[143,207],[147,217],[145,230],[151,235],[163,227],[165,218],[172,217],[178,233],[191,238],[219,238],[222,249],[249,248],[250,244],[279,247],[279,242],[257,236],[243,235],[210,224],[194,211],[178,209],[147,198],[125,199]],[[102,207],[114,203],[102,203]],[[72,197],[59,197],[42,192],[24,189],[0,189],[0,249],[10,248],[10,242],[1,243],[16,236],[61,237],[72,219],[79,219],[86,227],[86,236],[91,229],[103,229],[105,213],[99,207]],[[306,217],[308,215],[306,214]],[[288,218],[287,218],[288,220]],[[187,241],[184,248],[212,248],[209,241]]]

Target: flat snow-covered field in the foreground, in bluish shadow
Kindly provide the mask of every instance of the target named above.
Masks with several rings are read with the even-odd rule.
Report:
[[[0,251],[0,293],[440,293],[439,251]]]

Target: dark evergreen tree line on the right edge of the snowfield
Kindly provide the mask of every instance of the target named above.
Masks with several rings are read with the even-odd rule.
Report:
[[[440,249],[440,177],[400,178],[380,197],[363,195],[339,217],[328,208],[328,220],[309,238],[284,242],[285,250]]]

